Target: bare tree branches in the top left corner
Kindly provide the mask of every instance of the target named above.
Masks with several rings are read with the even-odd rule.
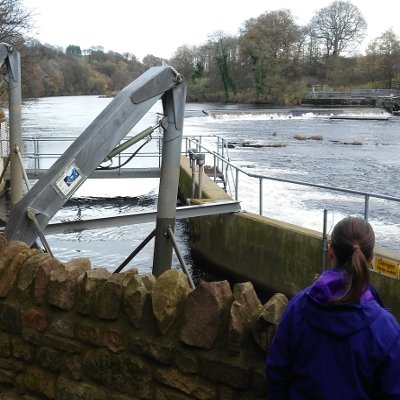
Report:
[[[32,11],[20,0],[0,0],[0,42],[15,46],[25,42],[25,35],[32,29]]]

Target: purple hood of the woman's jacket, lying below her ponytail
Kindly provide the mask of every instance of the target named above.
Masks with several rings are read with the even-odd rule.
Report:
[[[359,302],[327,305],[326,302],[344,294],[349,277],[338,270],[325,271],[306,291],[304,317],[317,330],[336,337],[354,335],[372,323],[380,306],[367,289]]]

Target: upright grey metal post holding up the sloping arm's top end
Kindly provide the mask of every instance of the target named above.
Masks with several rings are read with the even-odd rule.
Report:
[[[153,259],[153,275],[155,277],[159,277],[172,266],[172,243],[168,238],[168,228],[171,228],[172,231],[175,229],[186,99],[186,85],[182,80],[180,83],[182,84],[165,92],[162,98],[167,125],[163,126],[162,163]]]

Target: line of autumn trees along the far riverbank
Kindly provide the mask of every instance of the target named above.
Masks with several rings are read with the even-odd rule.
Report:
[[[290,10],[265,12],[237,36],[215,32],[201,46],[179,47],[170,60],[45,45],[27,39],[30,18],[19,0],[0,0],[0,40],[21,53],[24,97],[113,95],[163,62],[184,76],[190,101],[298,104],[316,85],[400,89],[399,37],[389,29],[357,54],[367,24],[348,1],[317,10],[307,26]]]

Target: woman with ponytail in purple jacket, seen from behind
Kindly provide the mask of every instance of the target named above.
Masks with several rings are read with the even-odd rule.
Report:
[[[269,349],[269,400],[400,399],[400,326],[371,290],[371,225],[332,232],[333,269],[288,304]]]

